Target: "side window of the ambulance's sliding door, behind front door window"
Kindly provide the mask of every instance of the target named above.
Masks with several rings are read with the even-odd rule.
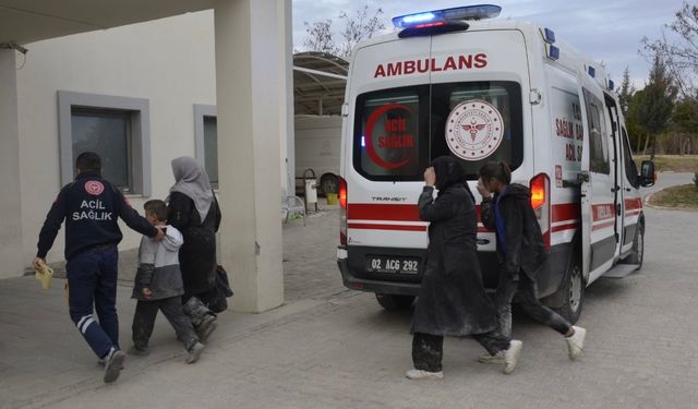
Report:
[[[611,173],[609,163],[609,135],[603,117],[601,99],[585,89],[587,121],[589,125],[589,170],[595,173]]]

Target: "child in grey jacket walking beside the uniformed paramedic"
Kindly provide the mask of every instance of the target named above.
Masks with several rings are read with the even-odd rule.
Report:
[[[131,353],[139,356],[148,353],[148,339],[153,334],[157,311],[160,310],[189,352],[186,363],[194,363],[201,357],[204,345],[198,341],[191,320],[182,311],[184,286],[178,254],[183,243],[182,233],[171,226],[166,226],[165,202],[148,201],[144,208],[147,220],[165,231],[165,239],[160,242],[147,237],[141,239],[139,270],[135,275],[132,296],[139,302],[133,316]]]

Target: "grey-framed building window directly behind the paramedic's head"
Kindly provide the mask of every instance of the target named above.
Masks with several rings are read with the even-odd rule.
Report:
[[[103,176],[124,193],[151,194],[147,99],[58,92],[61,182],[75,177],[85,151],[101,157]]]

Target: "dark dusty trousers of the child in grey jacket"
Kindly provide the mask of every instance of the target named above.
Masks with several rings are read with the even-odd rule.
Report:
[[[161,311],[163,315],[170,322],[172,328],[177,333],[184,348],[190,350],[198,341],[192,321],[184,315],[182,311],[181,297],[170,297],[163,300],[141,301],[135,305],[135,314],[133,315],[133,346],[137,349],[146,349],[151,335],[153,335],[153,326],[157,312]]]

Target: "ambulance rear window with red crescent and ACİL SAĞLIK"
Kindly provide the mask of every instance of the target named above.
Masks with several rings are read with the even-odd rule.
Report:
[[[429,159],[429,86],[382,89],[357,98],[354,169],[369,180],[422,180]]]

